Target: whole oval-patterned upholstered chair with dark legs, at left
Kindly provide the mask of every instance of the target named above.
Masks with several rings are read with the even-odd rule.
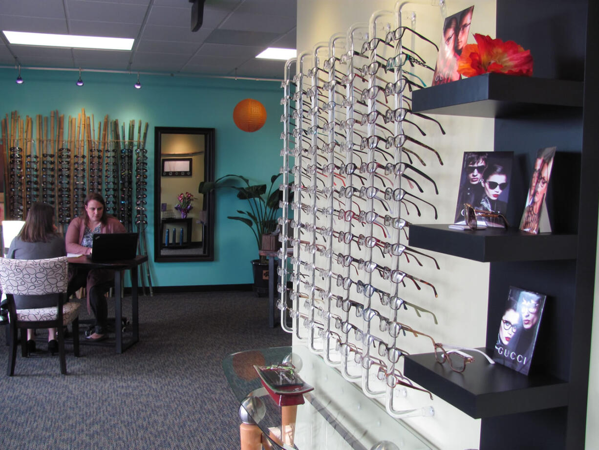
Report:
[[[63,327],[72,323],[73,350],[79,356],[79,307],[77,302],[66,302],[68,286],[66,256],[50,259],[0,258],[0,286],[8,300],[10,321],[10,352],[7,375],[14,375],[17,359],[17,330],[21,329],[23,356],[27,354],[26,329],[56,328],[60,373],[66,374],[65,338]],[[56,307],[17,310],[14,295],[43,295],[56,293]]]

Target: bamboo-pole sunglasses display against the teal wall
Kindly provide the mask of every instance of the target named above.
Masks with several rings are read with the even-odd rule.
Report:
[[[14,111],[10,119],[8,115],[2,119],[2,142],[8,143],[6,217],[24,220],[31,204],[41,200],[55,206],[56,221],[64,230],[80,214],[87,193],[98,191],[104,194],[107,212],[116,215],[128,230],[134,222],[147,224],[145,202],[138,201],[134,207],[134,192],[146,197],[145,173],[136,172],[133,177],[134,163],[146,164],[134,160],[134,121],[130,122],[129,140],[121,142],[118,121],[109,124],[108,116],[103,126],[98,122],[97,136],[93,116],[86,116],[84,109],[76,118],[68,118],[66,135],[63,115],[52,111],[48,119],[36,117],[35,139],[29,116],[21,119]],[[136,170],[142,169],[147,166]]]

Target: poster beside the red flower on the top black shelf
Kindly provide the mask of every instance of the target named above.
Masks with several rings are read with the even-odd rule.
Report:
[[[441,45],[439,46],[439,53],[437,55],[435,73],[432,76],[433,86],[442,85],[461,78],[461,75],[458,73],[458,58],[468,40],[473,11],[474,6],[471,6],[447,17],[443,22]]]

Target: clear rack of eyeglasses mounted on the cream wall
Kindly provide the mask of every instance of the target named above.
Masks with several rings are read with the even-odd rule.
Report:
[[[439,269],[437,261],[406,245],[407,217],[437,218],[437,185],[425,166],[443,161],[422,141],[422,122],[444,130],[410,109],[410,92],[433,71],[413,43],[432,52],[437,46],[401,23],[380,25],[383,16],[389,18],[375,13],[370,24],[332,35],[286,64],[278,307],[283,329],[367,397],[383,398],[390,415],[430,416],[432,406],[399,405],[408,392],[432,399],[403,376],[401,357],[409,354],[409,337],[436,345],[407,325],[404,310],[437,322],[410,300],[415,290],[437,296],[425,275],[416,275]],[[445,350],[434,348],[444,360]]]

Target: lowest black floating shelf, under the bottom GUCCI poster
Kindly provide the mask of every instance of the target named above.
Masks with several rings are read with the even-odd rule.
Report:
[[[525,376],[474,355],[463,373],[439,364],[434,353],[406,356],[404,374],[474,419],[568,404],[568,383],[552,376]]]

